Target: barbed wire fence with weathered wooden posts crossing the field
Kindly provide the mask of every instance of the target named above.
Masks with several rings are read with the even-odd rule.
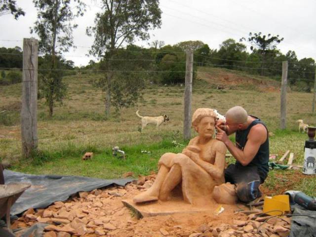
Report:
[[[10,40],[10,41],[21,41],[21,40]],[[18,53],[3,53],[0,52],[0,55],[11,55],[11,56],[21,56],[23,57],[23,67],[20,68],[5,68],[2,67],[0,70],[18,70],[22,71],[22,108],[21,108],[21,130],[22,130],[22,147],[23,147],[23,155],[29,156],[37,147],[37,94],[38,94],[38,73],[45,72],[45,71],[63,71],[63,72],[74,72],[74,69],[43,69],[38,68],[38,44],[39,41],[32,39],[24,39],[23,40],[23,55]],[[86,47],[77,45],[77,47]],[[127,49],[113,49],[115,51],[128,51],[128,52],[141,52],[141,53],[161,53],[161,54],[182,54],[184,52],[175,52],[175,51],[134,51],[134,50],[127,50]],[[88,57],[87,55],[84,56],[77,56],[77,55],[64,55],[65,57]],[[206,60],[214,60],[217,63],[212,63],[209,61],[199,60],[194,61],[194,57],[198,58],[205,58]],[[156,59],[107,59],[111,61],[124,61],[124,62],[151,62],[155,63]],[[258,62],[258,61],[241,61],[241,60],[231,60],[231,59],[222,59],[217,57],[205,56],[197,53],[193,53],[193,51],[187,51],[186,61],[173,61],[173,60],[166,60],[163,61],[164,63],[179,63],[186,65],[185,71],[168,71],[168,70],[96,70],[96,69],[79,69],[79,73],[117,73],[117,72],[133,72],[139,74],[163,74],[163,73],[183,73],[185,74],[185,93],[184,93],[184,138],[188,139],[191,136],[190,130],[190,121],[191,120],[191,100],[192,100],[192,78],[193,78],[193,65],[203,67],[203,70],[198,72],[199,74],[204,74],[208,76],[217,76],[223,75],[222,72],[216,72],[214,70],[210,70],[210,68],[226,68],[232,69],[241,72],[256,73],[259,70],[264,70],[266,72],[265,76],[275,79],[281,82],[280,85],[280,129],[286,128],[286,88],[288,86],[289,80],[294,81],[303,81],[308,84],[314,83],[314,93],[313,93],[313,103],[312,103],[312,113],[315,112],[315,99],[316,99],[316,72],[314,71],[304,71],[299,72],[298,70],[288,69],[289,64],[293,64],[292,68],[295,68],[295,65],[300,65],[302,63],[295,62],[287,62],[287,61],[269,61],[269,62]],[[227,64],[220,64],[219,62],[225,62]],[[266,65],[266,66],[252,66],[251,65]],[[282,65],[282,67],[281,67]],[[279,76],[272,74],[271,72],[277,72]],[[293,78],[288,77],[291,72],[299,72],[304,75],[315,74],[315,79],[305,79],[305,78]],[[257,76],[257,75],[256,75]],[[87,84],[90,82],[70,82],[72,84]],[[300,88],[299,86],[296,87],[298,91],[306,91],[304,85]]]

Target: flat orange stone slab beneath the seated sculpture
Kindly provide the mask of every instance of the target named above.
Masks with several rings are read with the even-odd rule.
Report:
[[[208,205],[195,206],[183,201],[182,198],[172,198],[168,201],[151,201],[134,203],[132,199],[122,200],[123,204],[137,213],[139,218],[149,216],[163,216],[173,214],[192,214],[209,212],[214,213],[218,203],[210,202]]]

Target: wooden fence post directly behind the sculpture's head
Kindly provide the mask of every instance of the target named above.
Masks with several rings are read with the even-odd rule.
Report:
[[[192,101],[192,79],[193,79],[193,51],[187,51],[186,79],[184,87],[184,126],[183,137],[185,140],[191,138],[191,101]]]

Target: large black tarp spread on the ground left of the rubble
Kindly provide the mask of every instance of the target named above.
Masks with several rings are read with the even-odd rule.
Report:
[[[27,189],[11,207],[11,215],[29,208],[45,208],[55,201],[65,201],[79,191],[92,191],[112,184],[124,186],[133,179],[96,179],[82,176],[32,175],[4,170],[5,184],[27,182]]]

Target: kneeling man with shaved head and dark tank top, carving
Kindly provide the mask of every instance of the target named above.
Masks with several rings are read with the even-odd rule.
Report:
[[[217,121],[216,128],[216,139],[224,142],[236,159],[236,163],[225,170],[225,181],[236,184],[237,197],[243,202],[261,197],[259,185],[269,172],[269,133],[266,125],[236,106],[227,111],[225,123]],[[228,138],[233,133],[236,133],[236,145]]]

